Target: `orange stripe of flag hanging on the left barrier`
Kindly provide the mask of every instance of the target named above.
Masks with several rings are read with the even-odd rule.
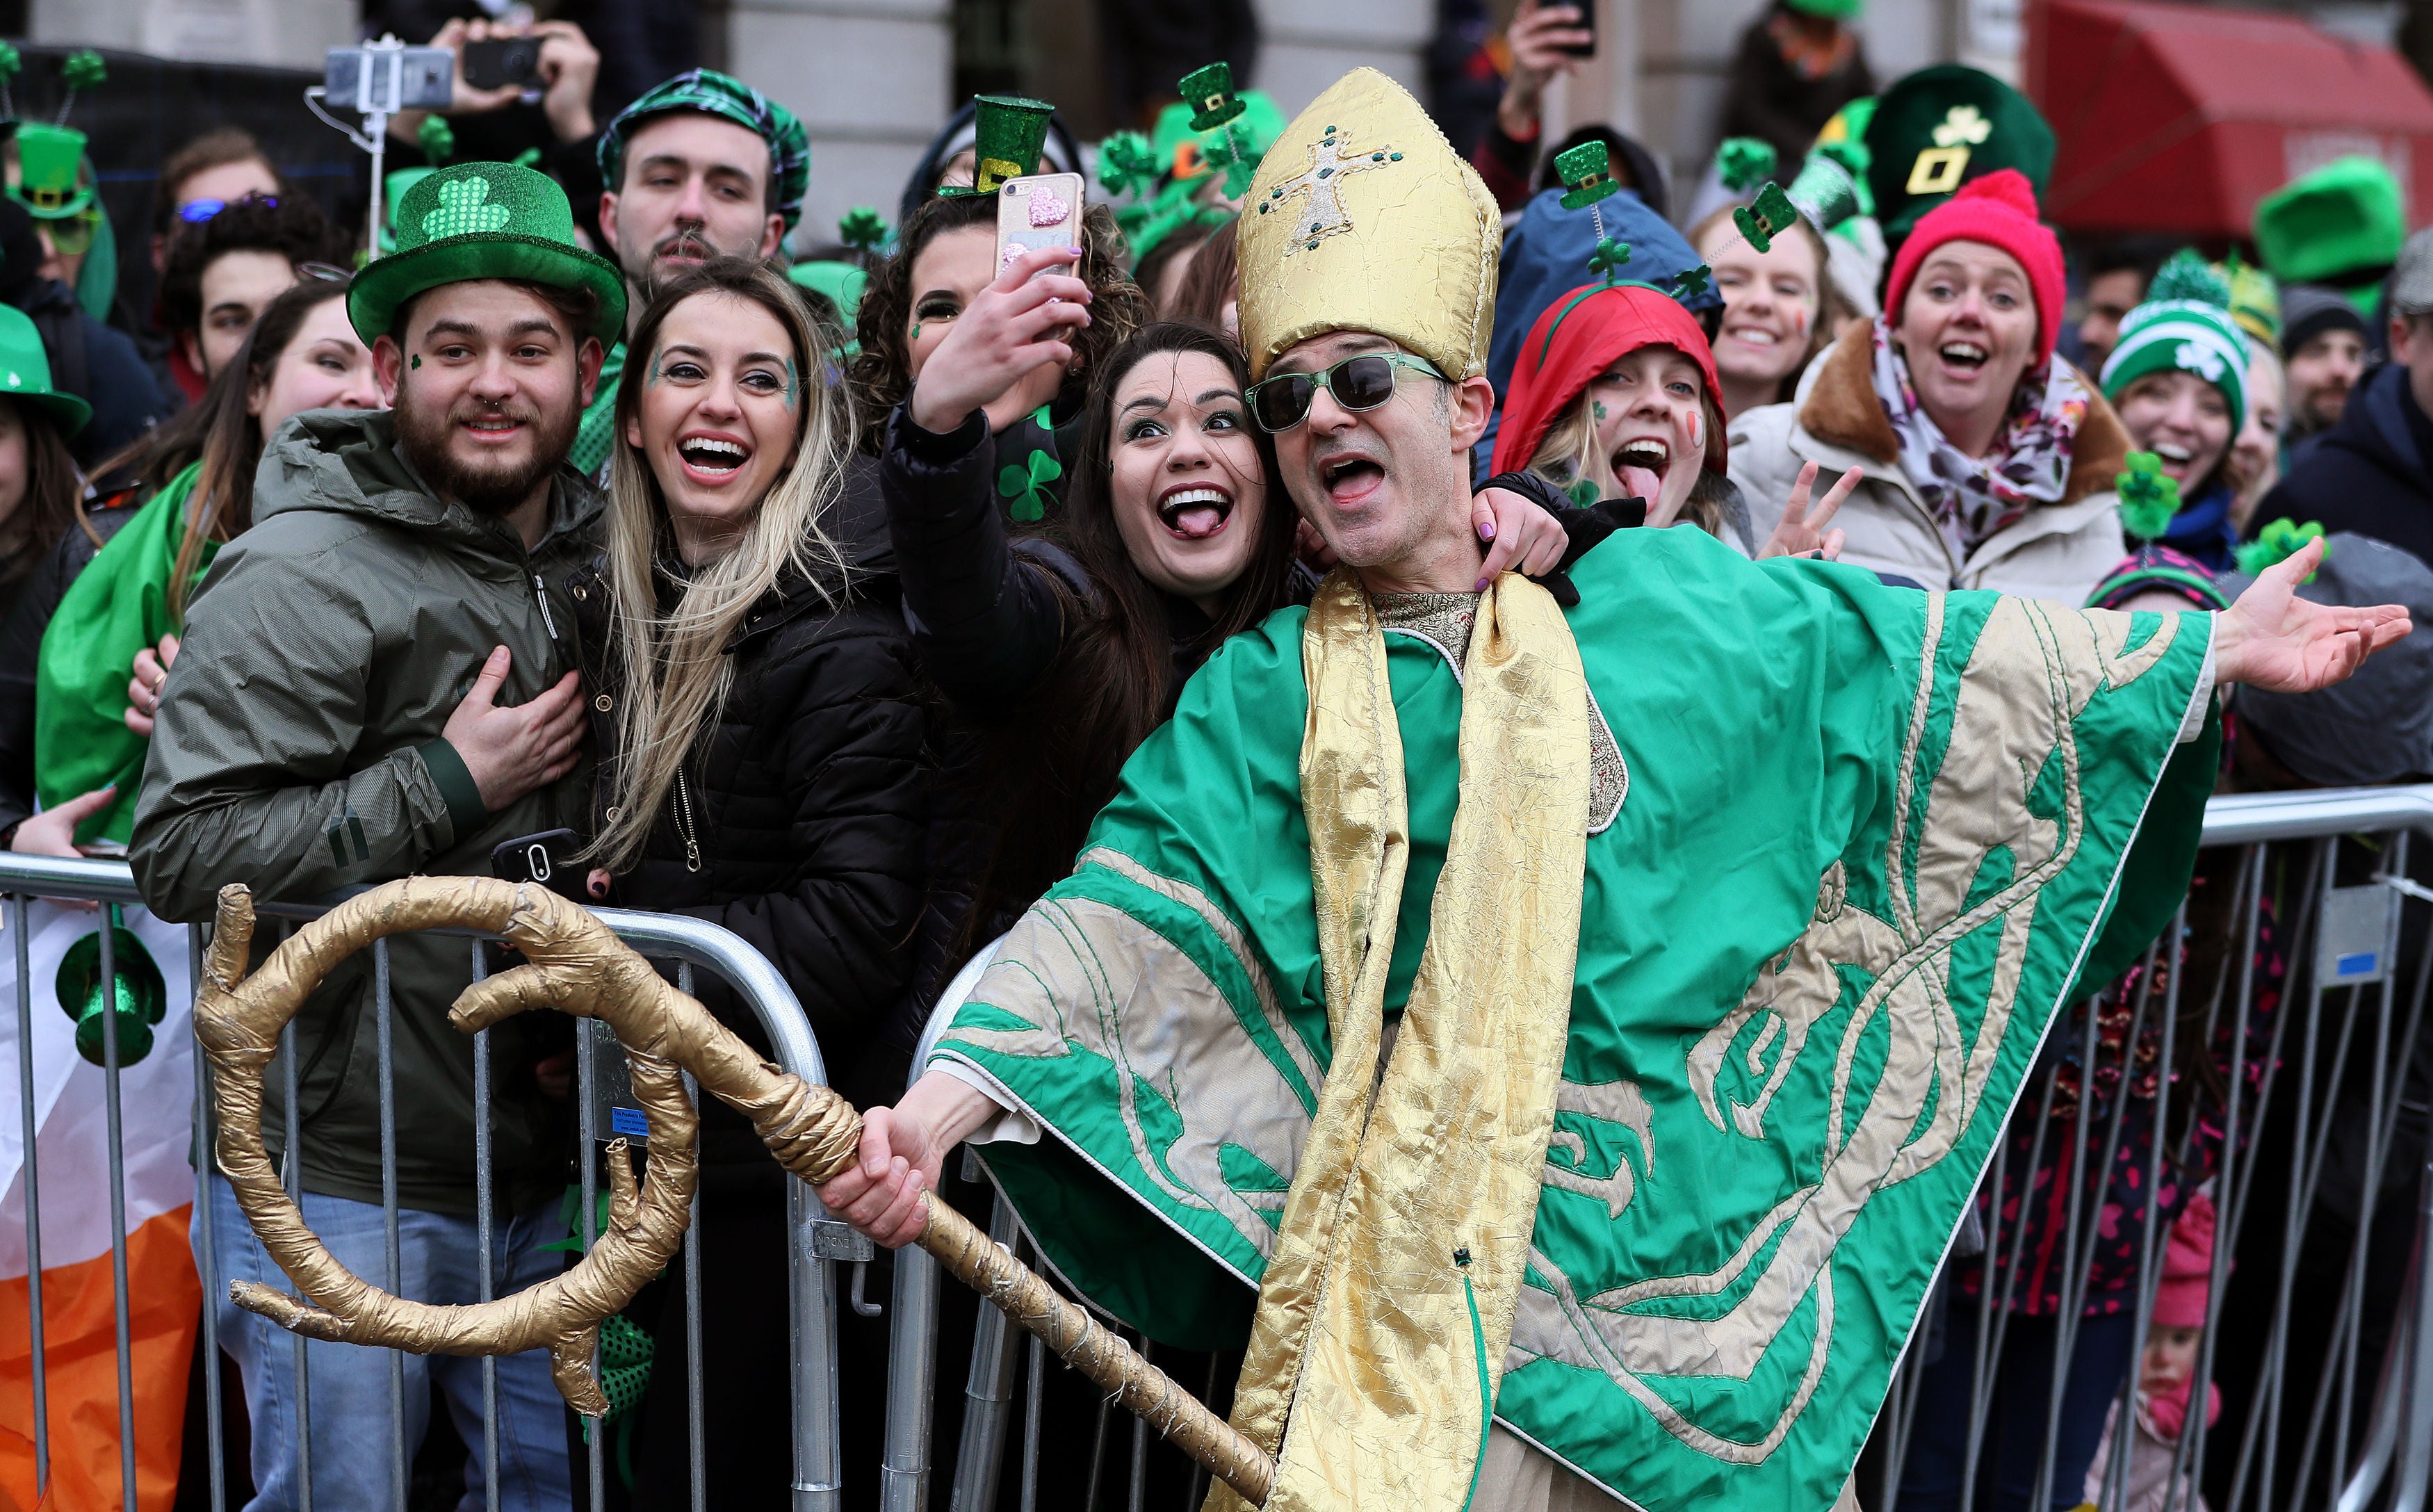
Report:
[[[134,1351],[136,1497],[168,1507],[178,1495],[185,1381],[202,1327],[202,1283],[185,1225],[192,1205],[127,1234],[127,1337]],[[117,1512],[119,1363],[109,1256],[41,1273],[44,1385],[51,1393],[51,1485],[34,1497],[34,1334],[24,1276],[0,1281],[0,1507]]]

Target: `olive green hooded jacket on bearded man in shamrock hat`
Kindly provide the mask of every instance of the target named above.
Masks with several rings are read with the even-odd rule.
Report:
[[[394,448],[387,411],[309,411],[263,450],[253,528],[212,562],[161,699],[129,859],[163,918],[209,918],[219,889],[307,901],[421,874],[487,874],[501,840],[581,828],[589,760],[489,813],[440,738],[484,657],[516,662],[523,704],[579,662],[564,575],[596,550],[601,502],[560,470],[538,550],[443,502]],[[263,928],[258,945],[275,942]],[[397,1191],[406,1208],[474,1205],[472,1040],[448,1006],[472,945],[389,942]],[[528,1210],[564,1188],[564,1110],[545,1098],[526,1015],[491,1040],[496,1193]],[[331,971],[297,1015],[304,1191],[380,1200],[380,1035],[372,952]],[[285,1069],[265,1132],[285,1147]]]

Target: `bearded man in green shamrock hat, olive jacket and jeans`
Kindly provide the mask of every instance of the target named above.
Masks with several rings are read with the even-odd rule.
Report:
[[[243,881],[302,901],[411,872],[482,874],[504,840],[584,823],[584,706],[567,567],[601,502],[564,467],[601,343],[625,319],[616,268],[574,246],[564,192],[508,163],[414,185],[399,251],[355,275],[348,317],[392,411],[307,411],[270,441],[253,528],[187,609],[153,726],[131,862],[163,918],[207,918]],[[270,1069],[265,1130],[299,1159],[304,1220],[375,1283],[431,1303],[479,1295],[472,1040],[448,1027],[470,981],[462,940],[389,940],[389,1025],[370,952],[333,971]],[[533,1015],[526,1015],[533,1018]],[[535,1020],[538,1023],[538,1020]],[[375,1045],[380,1049],[375,1049]],[[382,1049],[394,1103],[382,1108]],[[562,1256],[564,1101],[533,1027],[491,1040],[494,1266],[513,1290]],[[290,1076],[297,1108],[285,1105]],[[394,1113],[397,1271],[382,1234],[382,1127]],[[285,1149],[287,1120],[299,1149]],[[297,1505],[294,1339],[236,1310],[229,1281],[282,1286],[212,1178],[219,1342],[243,1373],[258,1507]],[[197,1227],[197,1244],[202,1230]],[[311,1500],[401,1500],[365,1449],[389,1412],[389,1361],[311,1344]],[[482,1444],[482,1371],[404,1356],[406,1454],[433,1390]],[[499,1502],[564,1507],[564,1415],[543,1351],[499,1361]],[[467,1468],[479,1485],[482,1466]]]

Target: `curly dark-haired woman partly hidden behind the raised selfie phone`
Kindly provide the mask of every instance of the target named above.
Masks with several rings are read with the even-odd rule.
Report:
[[[1041,363],[988,402],[998,506],[1015,523],[1044,519],[1063,499],[1080,443],[1080,407],[1095,365],[1148,321],[1148,295],[1124,270],[1124,239],[1105,205],[1083,217],[1078,282],[1090,321],[1061,363]],[[883,446],[888,414],[917,385],[956,321],[998,280],[998,197],[949,195],[905,219],[900,248],[871,273],[856,314],[861,355],[852,390],[861,446]]]

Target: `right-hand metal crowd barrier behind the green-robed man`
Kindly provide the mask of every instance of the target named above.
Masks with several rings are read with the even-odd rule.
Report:
[[[2270,1317],[2255,1325],[2241,1320],[2248,1332],[2263,1332],[2263,1361],[2246,1390],[2241,1427],[2229,1434],[2207,1434],[2207,1412],[2192,1407],[2187,1427],[2173,1449],[2170,1475],[2163,1480],[2161,1500],[2148,1497],[2141,1507],[2158,1512],[2195,1512],[2202,1490],[2212,1512],[2263,1512],[2268,1507],[2326,1507],[2336,1512],[2423,1512],[2426,1490],[2433,1483],[2433,1286],[2423,1276],[2426,1222],[2433,1215],[2433,1149],[2418,1157],[2426,1169],[2416,1181],[2404,1183],[2414,1193],[2399,1222],[2411,1225],[2414,1247],[2406,1251],[2404,1290],[2389,1317],[2367,1312],[2367,1244],[2377,1232],[2375,1205],[2384,1186],[2384,1161],[2401,1118],[2426,1120],[2418,1091],[2406,1091],[2409,1064],[2416,1054],[2423,1027],[2426,981],[2433,976],[2433,889],[2406,877],[2409,835],[2433,838],[2433,784],[2392,789],[2338,789],[2297,794],[2241,794],[2221,796],[2207,806],[2204,847],[2238,847],[2231,867],[2236,877],[2231,954],[2224,957],[2224,991],[2202,1006],[2207,1045],[2229,1032],[2231,1074],[2219,1096],[2199,1108],[2221,1132],[2221,1154],[2212,1176],[2212,1195],[2219,1210],[2214,1239],[2214,1273],[2209,1293],[2209,1327],[2199,1346],[2192,1402],[2207,1402],[2216,1385],[2216,1342],[2221,1339],[2224,1298],[2231,1283],[2231,1261],[2243,1237],[2268,1242],[2258,1251],[2258,1266],[2268,1278],[2272,1300]],[[2343,838],[2348,845],[2365,845],[2379,857],[2370,877],[2355,886],[2336,886],[2336,862]],[[2280,945],[2287,962],[2287,979],[2280,984],[2277,1013],[2270,1027],[2258,1018],[2263,984],[2255,981],[2258,920],[2268,915],[2268,901],[2280,894]],[[2416,959],[2399,962],[2401,923],[2406,915],[2423,930],[2423,950]],[[2326,928],[2326,918],[2331,925]],[[2362,937],[2360,935],[2362,928]],[[2187,930],[2187,903],[2180,906],[2168,940],[2182,940]],[[2345,935],[2345,937],[2338,937]],[[2331,952],[2326,959],[2319,954]],[[2372,969],[2360,967],[2360,957],[2372,957]],[[2182,1018],[2199,1013],[2199,1006],[2180,1001],[2182,971],[2168,962],[2163,989],[2156,993],[2158,950],[2146,952],[2141,991],[2136,993],[2129,1035],[2122,1054],[2131,1054],[2146,1037],[2148,1025],[2161,1025],[2158,1064],[2170,1069],[2175,1035]],[[942,996],[939,1013],[929,1023],[912,1076],[929,1057],[929,1047],[944,1027],[951,1008],[961,1003],[978,979],[976,962]],[[2109,986],[2109,984],[2105,984]],[[2260,1057],[2258,1086],[2248,1088],[2246,1052],[2248,1030],[2270,1035],[2270,1047]],[[2053,1346],[2049,1363],[2049,1395],[2041,1402],[2044,1434],[2036,1449],[2034,1490],[2029,1507],[2080,1505],[2083,1488],[2056,1483],[2056,1458],[2061,1419],[2066,1407],[2066,1378],[2078,1346],[2080,1310],[2088,1303],[2088,1269],[2097,1239],[2107,1227],[2102,1191],[2122,1149],[2122,1120],[2129,1108],[2129,1066],[2122,1064],[2122,1093],[2100,1108],[2095,1096],[2095,1066],[2105,1057],[2095,1032],[2095,998],[2070,1003],[2058,1015],[2051,1040],[2068,1032],[2085,1045],[2080,1066],[2080,1096],[2075,1113],[2053,1115],[2053,1062],[2039,1059],[2036,1074],[2022,1091],[2012,1113],[2029,1120],[2034,1147],[2049,1149],[2049,1137],[2068,1142],[2075,1152],[2100,1149],[2102,1159],[2085,1164],[2083,1176],[2070,1176],[2068,1222],[2053,1237],[2063,1249],[2063,1295],[2053,1315]],[[2428,1057],[2433,1059],[2433,1057]],[[2358,1110],[2362,1079],[2365,1171],[2360,1181],[2360,1213],[2355,1217],[2355,1244],[2341,1256],[2343,1290],[2333,1307],[2331,1337],[2321,1339],[2321,1366],[2306,1378],[2292,1378],[2289,1363],[2294,1334],[2294,1303],[2299,1300],[2299,1259],[2309,1234],[2321,1230],[2324,1161],[2331,1149],[2336,1120]],[[2406,1096],[2404,1096],[2406,1093]],[[2117,1437],[2095,1495],[2085,1495],[2102,1512],[2129,1507],[2131,1454],[2126,1424],[2134,1417],[2139,1359],[2146,1349],[2146,1332],[2153,1315],[2156,1281],[2163,1271],[2168,1222],[2158,1222],[2158,1183],[2165,1176],[2165,1137],[2173,1127],[2173,1098],[2197,1096],[2175,1076],[2158,1076],[2156,1142],[2146,1159],[2141,1191],[2146,1193],[2143,1247],[2139,1254],[2136,1298],[2126,1307],[2131,1317],[2131,1354],[2126,1371],[2112,1395]],[[2282,1122],[2287,1120],[2287,1122]],[[2192,1127],[2192,1120],[2185,1120]],[[2268,1127],[2285,1130],[2285,1139],[2265,1142]],[[1995,1166],[1988,1181],[2002,1191],[2010,1132],[1997,1144]],[[2173,1157],[2187,1154],[2187,1137]],[[2070,1171],[2080,1171],[2073,1161]],[[968,1166],[966,1166],[968,1169]],[[2088,1200],[2092,1193],[2095,1200]],[[1997,1208],[2000,1213],[2000,1208]],[[2114,1215],[2117,1217],[2117,1215]],[[2392,1220],[2392,1213],[2384,1213]],[[2007,1232],[2005,1232],[2007,1230]],[[990,1232],[1017,1249],[1029,1251],[1027,1234],[995,1195]],[[1968,1363],[1968,1437],[1966,1473],[1956,1505],[2010,1507],[2015,1502],[1985,1495],[1990,1471],[1988,1429],[1993,1417],[1995,1378],[2002,1363],[2002,1334],[2010,1312],[1995,1305],[1995,1293],[2007,1293],[2007,1281],[2017,1278],[2027,1225],[2002,1225],[2000,1217],[1983,1237],[1983,1254],[1993,1256],[1995,1283],[1980,1283],[1976,1298],[1951,1295],[1949,1317],[1973,1315],[1976,1337]],[[1980,1261],[1983,1264],[1983,1261]],[[1946,1261],[1946,1271],[1951,1261]],[[1946,1276],[1949,1278],[1949,1276]],[[1949,1295],[1949,1293],[1946,1293]],[[2389,1344],[2382,1359],[2367,1359],[2362,1334],[2375,1325],[2389,1325]],[[929,1505],[932,1468],[932,1407],[937,1378],[937,1329],[939,1295],[937,1269],[915,1249],[895,1256],[895,1317],[890,1320],[888,1361],[888,1437],[883,1466],[886,1512],[920,1512]],[[1903,1497],[1903,1468],[1917,1449],[1917,1410],[1922,1405],[1920,1381],[1925,1376],[1922,1327],[1907,1356],[1893,1373],[1893,1388],[1876,1424],[1869,1454],[1861,1456],[1854,1475],[1854,1493],[1866,1512],[1939,1512],[1946,1502]],[[1126,1332],[1129,1337],[1129,1332]],[[1146,1342],[1141,1342],[1146,1344]],[[973,1339],[971,1366],[963,1385],[963,1432],[956,1446],[951,1510],[993,1512],[1005,1473],[1007,1434],[1019,1412],[1022,1422],[1022,1471],[1017,1478],[1022,1512],[1039,1505],[1039,1446],[1041,1439],[1071,1449],[1090,1444],[1088,1493],[1078,1512],[1100,1512],[1102,1475],[1107,1458],[1107,1410],[1100,1405],[1097,1422],[1046,1422],[1041,1424],[1044,1354],[1032,1346],[1024,1390],[1015,1393],[1017,1359],[1000,1315],[983,1310]],[[1207,1393],[1214,1395],[1219,1381],[1209,1371]],[[2236,1383],[2233,1383],[2236,1385]],[[2036,1402],[2029,1402],[2032,1407]],[[2224,1424],[2231,1417],[2226,1412]],[[1146,1512],[1144,1463],[1151,1451],[1173,1456],[1163,1444],[1151,1444],[1134,1424],[1134,1446],[1124,1490],[1126,1512]],[[1173,1483],[1173,1475],[1168,1475]],[[1178,1512],[1199,1505],[1204,1480],[1190,1478],[1190,1497]],[[1161,1497],[1163,1500],[1163,1497]]]

